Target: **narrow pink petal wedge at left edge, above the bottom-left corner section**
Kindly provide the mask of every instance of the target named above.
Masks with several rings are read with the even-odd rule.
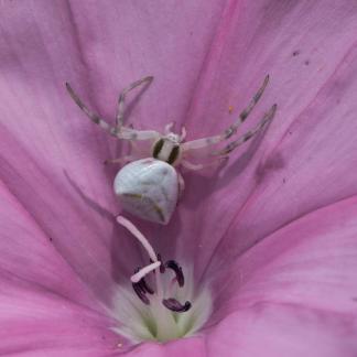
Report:
[[[68,300],[97,306],[90,290],[68,266],[66,258],[58,255],[53,238],[44,234],[2,183],[0,202],[2,271]]]

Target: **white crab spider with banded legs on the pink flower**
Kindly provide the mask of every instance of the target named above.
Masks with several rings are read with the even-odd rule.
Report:
[[[115,127],[110,126],[97,113],[89,110],[68,83],[66,83],[66,87],[71,97],[88,118],[111,136],[118,139],[130,140],[131,142],[140,140],[151,141],[151,152],[148,153],[147,159],[138,160],[136,155],[130,154],[107,162],[130,162],[118,172],[113,183],[115,192],[122,207],[140,218],[165,225],[169,223],[175,209],[178,195],[184,188],[184,181],[174,167],[182,165],[188,170],[195,171],[212,165],[213,162],[227,159],[227,154],[230,151],[252,138],[273,118],[277,105],[273,105],[269,111],[266,112],[261,121],[252,130],[246,132],[237,140],[229,142],[223,149],[210,152],[209,155],[215,156],[215,159],[210,160],[209,163],[192,163],[187,160],[190,152],[217,144],[236,133],[239,126],[247,119],[262,96],[268,85],[269,76],[266,76],[261,87],[252,97],[248,107],[240,112],[238,120],[230,125],[228,129],[217,136],[186,142],[184,141],[186,137],[185,129],[182,128],[181,133],[177,134],[172,131],[173,123],[165,126],[163,134],[155,130],[136,130],[123,126],[125,100],[127,94],[142,84],[150,84],[152,79],[152,76],[144,77],[132,83],[122,90],[118,100],[118,112]]]

